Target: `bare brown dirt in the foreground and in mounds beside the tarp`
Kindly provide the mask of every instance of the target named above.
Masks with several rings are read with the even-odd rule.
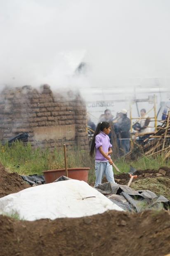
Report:
[[[160,169],[166,170],[164,177],[170,178],[170,168]],[[158,170],[138,170],[137,179],[153,178],[157,173]],[[129,175],[117,174],[115,180],[127,185]],[[0,165],[0,197],[29,186],[17,173],[8,173]],[[0,256],[165,256],[168,253],[169,210],[142,213],[112,210],[90,217],[32,222],[0,215]]]

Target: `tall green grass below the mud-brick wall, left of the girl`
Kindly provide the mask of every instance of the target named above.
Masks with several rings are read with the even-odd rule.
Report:
[[[41,150],[40,147],[33,149],[28,142],[12,142],[8,146],[0,145],[0,162],[9,171],[17,171],[21,175],[42,174],[42,171],[65,168],[64,148],[50,152],[48,148]],[[66,162],[68,168],[91,167],[94,165],[85,150],[66,149]]]

